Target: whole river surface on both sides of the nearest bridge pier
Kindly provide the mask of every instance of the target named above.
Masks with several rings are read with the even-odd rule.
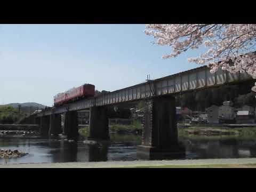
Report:
[[[88,144],[84,140],[68,142],[40,137],[0,137],[0,149],[18,149],[28,153],[9,158],[7,163],[134,161],[141,136],[110,133],[110,141]],[[186,148],[187,159],[256,157],[255,135],[180,135],[179,141]],[[0,158],[0,163],[6,163],[6,159]]]

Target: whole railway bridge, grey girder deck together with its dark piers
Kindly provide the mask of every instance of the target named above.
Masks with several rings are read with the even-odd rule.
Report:
[[[184,154],[178,145],[175,119],[175,97],[188,92],[252,79],[246,73],[231,74],[219,69],[211,74],[206,66],[183,71],[178,74],[154,79],[116,90],[98,97],[81,99],[37,114],[42,135],[61,132],[61,114],[65,114],[64,133],[68,138],[78,135],[77,111],[90,109],[90,133],[93,140],[109,139],[107,107],[121,103],[145,101],[142,143],[137,155],[143,158],[158,158]]]

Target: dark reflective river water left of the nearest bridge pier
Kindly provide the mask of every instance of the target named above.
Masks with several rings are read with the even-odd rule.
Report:
[[[10,158],[9,163],[61,163],[135,160],[136,146],[140,144],[135,135],[114,136],[117,141],[87,145],[83,141],[68,142],[57,139],[0,138],[0,148],[18,149],[29,155]],[[0,159],[4,164],[4,159]]]

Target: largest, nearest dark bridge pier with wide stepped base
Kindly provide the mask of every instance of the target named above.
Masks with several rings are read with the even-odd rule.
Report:
[[[185,156],[178,144],[175,98],[157,97],[146,101],[142,143],[137,158],[165,159]]]

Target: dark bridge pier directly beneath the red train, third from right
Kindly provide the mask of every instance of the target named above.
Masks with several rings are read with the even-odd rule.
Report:
[[[78,119],[77,111],[68,111],[65,113],[64,134],[68,139],[78,138]]]

